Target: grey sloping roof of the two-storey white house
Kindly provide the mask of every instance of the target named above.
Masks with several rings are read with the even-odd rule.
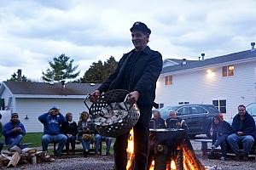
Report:
[[[214,57],[211,59],[204,59],[204,60],[198,60],[198,61],[192,61],[187,62],[185,65],[170,65],[166,66],[162,69],[161,74],[164,73],[171,73],[174,71],[185,71],[189,69],[195,69],[210,65],[218,65],[226,62],[232,62],[232,61],[238,61],[241,59],[256,59],[256,50],[247,50],[247,51],[241,51],[234,54],[227,54],[222,55],[218,57]]]

